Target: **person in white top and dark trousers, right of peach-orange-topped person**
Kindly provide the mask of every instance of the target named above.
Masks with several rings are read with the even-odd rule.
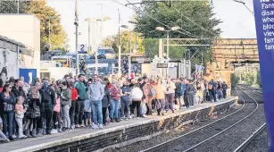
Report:
[[[167,84],[166,84],[166,92],[165,92],[165,99],[166,99],[165,111],[166,111],[166,113],[169,111],[169,109],[171,109],[172,113],[174,113],[175,89],[176,89],[176,86],[175,86],[174,82],[170,79],[170,76],[168,76]]]

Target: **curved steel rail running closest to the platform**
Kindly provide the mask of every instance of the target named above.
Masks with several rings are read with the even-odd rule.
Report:
[[[236,90],[236,91],[237,91],[237,90]],[[237,91],[237,94],[240,96],[240,94],[238,93],[238,91]],[[234,112],[234,113],[232,113],[232,114],[228,114],[227,116],[225,116],[225,117],[223,117],[223,118],[220,118],[220,119],[218,119],[218,120],[216,120],[216,121],[214,121],[214,122],[208,123],[208,124],[206,124],[206,125],[204,125],[204,126],[202,126],[202,127],[200,127],[200,128],[195,129],[194,131],[189,131],[189,132],[187,132],[186,134],[183,134],[183,135],[181,135],[181,136],[179,136],[179,137],[177,137],[177,138],[167,140],[167,141],[165,141],[165,142],[162,142],[161,144],[155,145],[154,147],[146,148],[146,149],[144,149],[144,150],[140,150],[139,152],[147,152],[147,151],[154,150],[154,149],[156,149],[156,148],[162,147],[163,145],[168,145],[170,142],[172,142],[172,141],[174,141],[174,140],[176,140],[176,139],[183,138],[183,137],[187,136],[188,134],[191,134],[191,133],[193,133],[193,132],[195,132],[195,131],[202,130],[203,128],[208,127],[208,126],[210,126],[210,125],[212,125],[212,124],[214,124],[214,123],[216,123],[216,122],[220,122],[221,120],[227,118],[228,116],[237,114],[238,112],[240,112],[241,110],[243,110],[243,108],[245,107],[245,99],[244,99],[244,97],[242,97],[242,96],[240,96],[240,97],[244,100],[244,104],[243,104],[243,106],[242,106],[240,109],[238,109],[236,112]]]

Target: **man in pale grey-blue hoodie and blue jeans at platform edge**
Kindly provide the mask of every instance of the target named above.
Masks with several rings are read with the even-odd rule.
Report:
[[[94,125],[93,129],[103,129],[102,99],[104,98],[104,86],[98,80],[98,75],[94,75],[92,84],[88,87],[87,97],[91,103]]]

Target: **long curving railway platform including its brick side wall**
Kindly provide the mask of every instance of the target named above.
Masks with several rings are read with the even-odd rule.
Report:
[[[174,114],[156,114],[147,118],[113,122],[104,130],[77,129],[40,138],[21,139],[0,144],[1,152],[83,152],[102,151],[104,148],[119,147],[136,141],[149,139],[197,119],[219,114],[237,103],[237,97],[221,99],[216,103],[204,103],[193,108],[181,109]]]

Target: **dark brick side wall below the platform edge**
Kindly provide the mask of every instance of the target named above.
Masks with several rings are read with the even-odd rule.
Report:
[[[162,120],[152,121],[149,123],[140,124],[132,127],[125,127],[117,131],[104,132],[103,134],[96,135],[94,137],[87,137],[79,139],[77,141],[71,141],[69,143],[55,145],[51,148],[44,148],[38,150],[39,152],[89,152],[101,148],[107,148],[114,144],[119,144],[130,139],[141,138],[152,135],[159,131],[170,130],[179,126],[182,122],[191,122],[199,119],[203,120],[208,118],[210,112],[213,114],[220,114],[226,112],[228,108],[235,103],[232,100],[226,104],[220,104],[218,106],[208,107],[199,111],[194,111],[188,114],[178,114],[176,116],[170,116],[163,118]]]

